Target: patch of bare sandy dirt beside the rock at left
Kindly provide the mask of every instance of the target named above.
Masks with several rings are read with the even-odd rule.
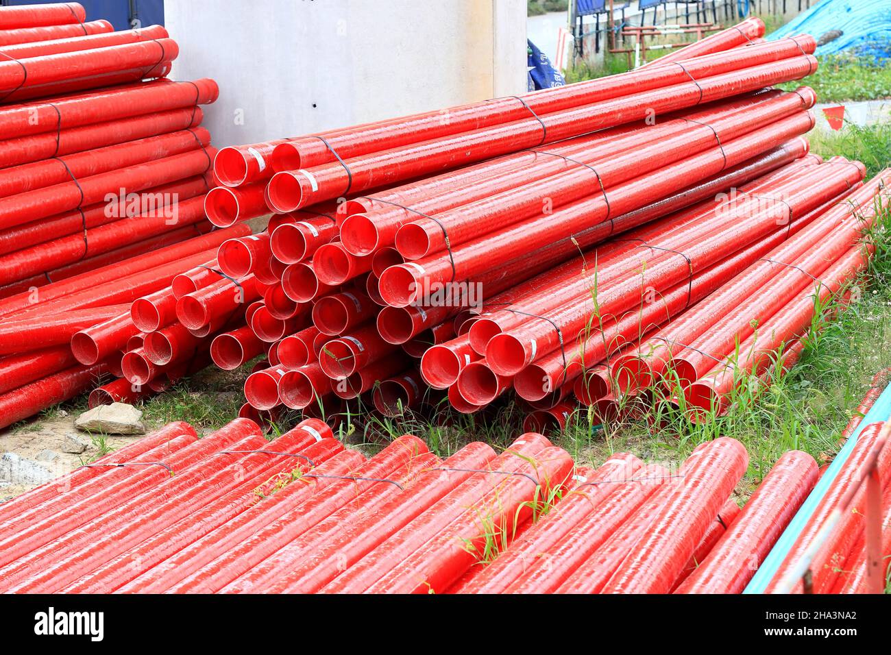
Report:
[[[91,441],[86,432],[76,430],[74,419],[76,414],[58,415],[52,419],[38,419],[15,430],[4,430],[0,433],[0,454],[15,453],[44,467],[53,474],[53,478],[76,469],[83,463],[93,460],[99,449],[91,442],[81,454],[63,453],[62,443],[69,434],[78,435],[85,441]],[[142,435],[127,437],[105,437],[105,444],[117,450],[126,446]],[[12,485],[0,482],[0,503],[4,503],[17,495],[23,494],[37,485]]]

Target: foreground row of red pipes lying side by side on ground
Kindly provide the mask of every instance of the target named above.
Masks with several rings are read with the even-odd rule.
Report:
[[[534,432],[444,461],[405,435],[366,460],[315,419],[271,444],[245,419],[200,441],[173,423],[103,463],[124,466],[0,508],[0,590],[732,594],[818,477],[784,454],[740,510],[731,438],[676,470],[628,453],[577,468]]]

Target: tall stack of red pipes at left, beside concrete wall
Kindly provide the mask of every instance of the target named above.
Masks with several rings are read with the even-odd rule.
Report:
[[[118,371],[72,353],[75,332],[247,232],[209,234],[204,216],[216,150],[200,105],[217,84],[164,78],[177,50],[158,25],[83,20],[77,3],[0,7],[3,426]]]

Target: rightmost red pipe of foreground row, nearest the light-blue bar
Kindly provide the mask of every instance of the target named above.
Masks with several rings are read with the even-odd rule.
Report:
[[[817,463],[783,454],[731,527],[675,594],[740,594],[817,482]]]

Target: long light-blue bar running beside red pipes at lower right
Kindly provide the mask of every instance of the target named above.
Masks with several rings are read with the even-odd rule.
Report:
[[[830,485],[838,477],[838,471],[847,461],[851,451],[854,450],[854,444],[860,438],[860,434],[864,428],[869,427],[873,423],[885,422],[891,416],[891,385],[888,385],[882,394],[876,398],[876,402],[870,408],[870,411],[862,418],[857,428],[847,439],[844,446],[832,460],[832,463],[823,471],[821,478],[811,490],[811,493],[805,498],[805,502],[798,508],[795,516],[789,521],[789,525],[783,530],[782,535],[777,539],[777,543],[773,544],[771,552],[764,558],[764,563],[758,567],[755,575],[749,581],[743,594],[764,594],[764,589],[771,583],[773,576],[776,575],[778,569],[786,559],[792,546],[795,544],[798,535],[805,528],[807,521],[813,515],[813,511],[826,495]]]

